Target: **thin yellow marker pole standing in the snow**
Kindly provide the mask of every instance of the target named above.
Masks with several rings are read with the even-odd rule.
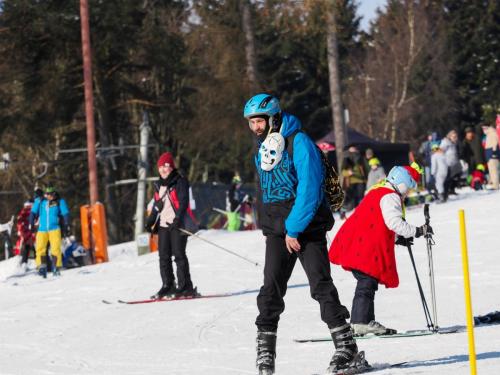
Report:
[[[465,291],[465,313],[467,315],[467,335],[469,337],[469,362],[470,373],[477,374],[476,370],[476,347],[474,344],[474,321],[472,319],[472,303],[470,296],[470,278],[469,278],[469,257],[467,255],[467,235],[465,232],[465,213],[464,210],[458,211],[460,222],[460,242],[462,242],[462,265],[464,272],[464,291]]]

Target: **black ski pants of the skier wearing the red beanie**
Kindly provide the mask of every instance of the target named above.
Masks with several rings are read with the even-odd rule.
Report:
[[[172,256],[175,258],[177,268],[178,290],[189,290],[193,288],[191,274],[189,273],[189,261],[186,255],[187,236],[177,229],[160,227],[158,229],[158,254],[160,256],[160,275],[163,286],[175,285]]]

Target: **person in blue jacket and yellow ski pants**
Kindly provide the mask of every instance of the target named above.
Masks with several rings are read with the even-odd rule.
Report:
[[[36,266],[43,277],[47,277],[47,245],[50,243],[52,255],[52,272],[59,275],[62,267],[61,254],[61,223],[65,235],[70,233],[69,210],[66,201],[59,198],[51,186],[45,189],[43,198],[35,199],[30,213],[30,228],[34,228],[38,218],[38,231],[36,233]]]

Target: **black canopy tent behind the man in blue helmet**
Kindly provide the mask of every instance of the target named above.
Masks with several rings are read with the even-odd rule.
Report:
[[[335,145],[335,135],[333,130],[323,138],[316,141],[320,145],[328,143]],[[375,156],[380,160],[384,169],[389,171],[395,165],[408,165],[410,145],[408,143],[389,143],[376,141],[356,130],[347,127],[347,147],[356,146],[362,153],[367,148],[371,148]],[[336,162],[335,153],[331,152],[332,162]],[[337,165],[336,163],[334,165]]]

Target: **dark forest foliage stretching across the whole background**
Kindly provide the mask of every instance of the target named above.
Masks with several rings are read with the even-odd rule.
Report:
[[[172,151],[193,182],[254,179],[254,144],[242,107],[246,74],[242,1],[89,0],[99,146],[135,145],[148,115],[148,176]],[[313,138],[332,129],[327,7],[336,7],[340,76],[350,126],[413,147],[492,121],[500,110],[496,0],[389,0],[367,32],[355,0],[248,1],[259,84]],[[414,22],[413,36],[410,21]],[[412,39],[413,38],[413,39]],[[411,42],[413,40],[413,42]],[[412,53],[410,46],[413,44]],[[35,185],[54,184],[73,218],[88,201],[78,1],[0,1],[0,222]],[[137,150],[98,153],[111,242],[131,239]],[[46,173],[45,172],[46,169]]]

